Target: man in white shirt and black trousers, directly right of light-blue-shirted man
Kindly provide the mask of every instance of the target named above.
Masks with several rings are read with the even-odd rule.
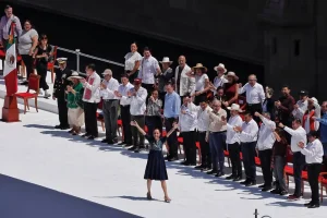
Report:
[[[186,160],[181,162],[185,166],[196,165],[196,111],[192,109],[194,104],[191,102],[190,96],[184,96],[183,105],[179,116],[179,130],[183,137],[183,147]]]

